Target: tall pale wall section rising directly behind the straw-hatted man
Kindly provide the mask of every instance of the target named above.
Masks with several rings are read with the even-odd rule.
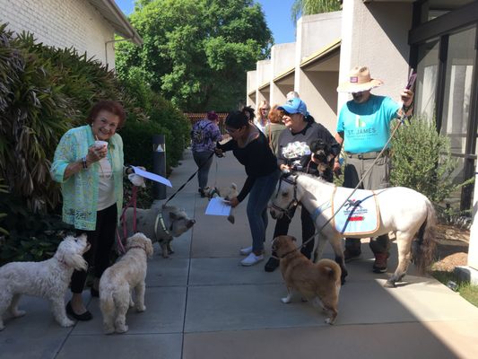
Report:
[[[344,1],[339,82],[347,81],[353,66],[368,66],[385,83],[372,92],[399,101],[408,78],[412,14],[412,3]],[[350,98],[339,94],[338,109]]]

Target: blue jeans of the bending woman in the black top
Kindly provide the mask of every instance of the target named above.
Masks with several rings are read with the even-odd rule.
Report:
[[[252,250],[255,252],[264,250],[265,230],[268,223],[267,204],[274,194],[280,174],[281,171],[277,170],[256,178],[249,192],[247,212],[252,235]]]

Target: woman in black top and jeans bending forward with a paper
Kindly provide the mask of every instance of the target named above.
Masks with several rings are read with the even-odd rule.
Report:
[[[248,256],[242,266],[253,266],[264,259],[265,230],[268,223],[267,204],[274,193],[280,171],[264,134],[250,123],[244,111],[231,112],[226,118],[226,132],[231,140],[217,144],[216,153],[232,151],[248,175],[238,197],[230,199],[230,206],[238,206],[248,195],[248,222],[252,246],[240,250]]]

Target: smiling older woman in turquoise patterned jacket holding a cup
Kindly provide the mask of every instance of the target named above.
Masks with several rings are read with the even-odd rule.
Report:
[[[125,120],[125,110],[117,101],[99,101],[86,118],[87,125],[62,136],[50,168],[53,180],[61,183],[63,221],[73,224],[77,235],[86,232],[91,244],[83,257],[94,267],[93,297],[99,296],[100,276],[109,267],[123,205],[123,176],[133,172],[124,166],[123,140],[117,134]],[[82,297],[86,276],[86,271],[74,271],[72,276],[73,296],[66,313],[75,320],[92,318]]]

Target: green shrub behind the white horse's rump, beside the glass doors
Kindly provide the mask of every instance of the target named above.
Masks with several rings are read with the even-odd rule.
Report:
[[[395,133],[391,148],[393,186],[413,188],[439,205],[463,185],[453,182],[456,159],[448,137],[438,133],[434,120],[413,117]]]

